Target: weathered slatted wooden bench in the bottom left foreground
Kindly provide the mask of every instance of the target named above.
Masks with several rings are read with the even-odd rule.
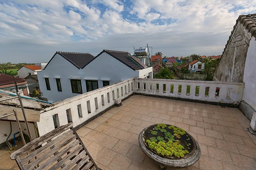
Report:
[[[72,123],[27,143],[13,152],[11,159],[20,170],[100,170]]]

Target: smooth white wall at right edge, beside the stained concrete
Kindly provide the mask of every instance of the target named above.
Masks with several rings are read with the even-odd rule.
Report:
[[[254,37],[250,40],[250,45],[247,51],[245,60],[245,71],[243,82],[245,88],[243,91],[243,100],[256,108],[256,40]]]

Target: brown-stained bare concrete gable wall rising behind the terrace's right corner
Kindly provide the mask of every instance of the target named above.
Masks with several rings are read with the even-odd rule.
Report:
[[[238,21],[214,73],[213,81],[243,82],[245,59],[251,37],[252,35]]]

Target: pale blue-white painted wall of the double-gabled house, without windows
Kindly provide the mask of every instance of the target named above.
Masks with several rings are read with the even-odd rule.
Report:
[[[107,53],[102,53],[85,68],[78,69],[65,58],[56,54],[46,69],[38,72],[38,81],[43,93],[42,97],[47,98],[49,102],[57,102],[78,95],[72,93],[69,77],[80,78],[82,91],[85,93],[87,92],[85,80],[98,80],[98,88],[101,88],[103,80],[110,80],[110,84],[113,84],[132,77],[145,78],[150,72],[152,72],[152,68],[134,71]],[[51,90],[46,90],[44,77],[49,77]],[[62,92],[57,90],[54,77],[61,79]]]

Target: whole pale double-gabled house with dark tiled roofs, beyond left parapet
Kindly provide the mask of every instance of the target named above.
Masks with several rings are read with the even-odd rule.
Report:
[[[56,52],[38,72],[38,80],[42,97],[56,102],[132,77],[152,78],[152,71],[124,51],[103,50],[96,57]]]

